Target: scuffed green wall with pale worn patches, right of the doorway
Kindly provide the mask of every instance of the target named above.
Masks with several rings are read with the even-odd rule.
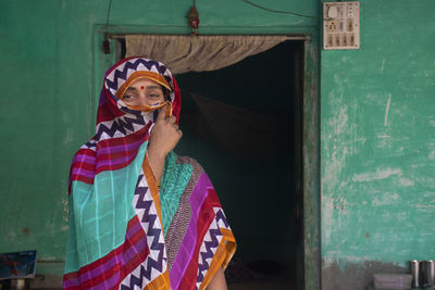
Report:
[[[434,9],[361,1],[361,49],[321,52],[323,280],[435,257]]]

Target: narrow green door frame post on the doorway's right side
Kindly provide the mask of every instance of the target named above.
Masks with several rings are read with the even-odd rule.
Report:
[[[306,41],[303,84],[304,289],[320,288],[319,42]]]

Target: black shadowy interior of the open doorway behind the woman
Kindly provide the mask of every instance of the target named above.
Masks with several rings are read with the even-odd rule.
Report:
[[[298,279],[303,277],[303,41],[285,41],[229,67],[176,79],[184,133],[176,152],[206,168],[236,235],[228,288],[303,289]],[[191,96],[224,110],[204,117],[207,111],[198,106],[204,99]],[[220,122],[239,109],[247,112],[241,121]]]

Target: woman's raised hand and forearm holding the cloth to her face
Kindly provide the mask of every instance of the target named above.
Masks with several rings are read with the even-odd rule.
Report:
[[[178,129],[176,117],[165,117],[166,106],[160,109],[151,130],[148,144],[148,160],[158,185],[162,177],[164,159],[178,143],[183,133]]]

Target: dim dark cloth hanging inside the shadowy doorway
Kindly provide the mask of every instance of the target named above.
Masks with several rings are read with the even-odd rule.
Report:
[[[241,156],[273,157],[288,152],[286,116],[234,106],[183,90],[195,109],[185,112],[183,125]],[[225,116],[225,117],[222,117]]]

